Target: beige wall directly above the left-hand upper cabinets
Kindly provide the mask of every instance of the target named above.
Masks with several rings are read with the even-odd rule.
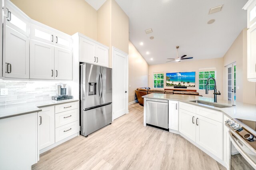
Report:
[[[73,35],[97,40],[97,11],[85,0],[11,0],[33,20]]]

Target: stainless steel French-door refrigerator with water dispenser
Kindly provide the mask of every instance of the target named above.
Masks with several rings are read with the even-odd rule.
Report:
[[[80,64],[80,134],[112,123],[112,69],[94,64]]]

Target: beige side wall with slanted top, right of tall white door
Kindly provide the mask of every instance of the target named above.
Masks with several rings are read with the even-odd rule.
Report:
[[[148,63],[129,42],[129,102],[135,101],[137,87],[148,87]]]

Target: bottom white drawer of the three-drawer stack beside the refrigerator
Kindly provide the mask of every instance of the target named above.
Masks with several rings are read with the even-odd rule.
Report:
[[[71,136],[72,134],[77,133],[79,130],[78,128],[78,121],[73,123],[69,123],[62,127],[58,127],[55,129],[55,142],[59,142],[60,140]]]

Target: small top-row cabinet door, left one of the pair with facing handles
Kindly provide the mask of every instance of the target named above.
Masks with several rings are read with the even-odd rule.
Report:
[[[30,24],[30,38],[54,45],[54,33],[35,24]]]

